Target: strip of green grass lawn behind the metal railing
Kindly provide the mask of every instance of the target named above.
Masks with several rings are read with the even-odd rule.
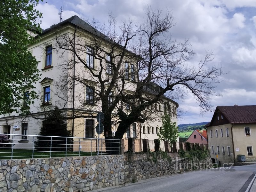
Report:
[[[26,149],[0,149],[0,159],[29,159],[32,158],[32,150],[26,150]],[[92,155],[97,155],[97,152],[84,152],[80,151],[75,152],[75,151],[67,151],[67,156],[91,156]],[[100,153],[101,154],[101,153]],[[65,151],[56,151],[51,153],[51,157],[65,157],[66,152]],[[50,152],[37,152],[34,151],[33,158],[49,158],[50,157]]]

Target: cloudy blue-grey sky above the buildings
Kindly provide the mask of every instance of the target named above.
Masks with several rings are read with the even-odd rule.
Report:
[[[147,6],[171,10],[175,26],[170,35],[176,40],[189,39],[196,52],[192,61],[199,62],[208,50],[214,53],[210,65],[222,67],[226,74],[217,84],[216,92],[221,96],[212,98],[213,109],[256,104],[255,0],[46,0],[37,10],[43,13],[41,28],[46,29],[60,22],[60,7],[64,20],[77,15],[106,23],[109,12],[118,22],[143,22]],[[184,112],[178,124],[211,121],[213,112],[202,114],[192,95],[177,102]]]

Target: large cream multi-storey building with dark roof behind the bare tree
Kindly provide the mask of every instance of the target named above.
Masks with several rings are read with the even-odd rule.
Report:
[[[86,47],[87,50],[78,50],[80,58],[83,58],[87,65],[91,68],[91,71],[86,69],[79,60],[76,60],[76,76],[80,76],[83,78],[83,81],[86,82],[86,86],[84,84],[77,84],[74,89],[75,97],[73,97],[73,90],[65,90],[61,89],[58,85],[60,79],[63,78],[63,66],[65,63],[68,63],[73,60],[74,54],[64,49],[55,49],[56,41],[55,35],[63,36],[63,37],[72,37],[75,33],[77,37],[74,39],[76,43],[79,41],[80,43],[83,41],[88,44],[91,44],[91,37],[93,36],[93,31],[96,31],[96,36],[103,36],[99,31],[92,28],[88,23],[84,20],[81,20],[77,16],[72,16],[71,18],[60,22],[57,25],[51,26],[43,31],[42,34],[35,34],[37,39],[35,44],[28,45],[28,51],[32,53],[33,56],[39,62],[38,70],[41,72],[41,79],[35,84],[35,91],[38,93],[39,98],[35,100],[34,104],[31,104],[29,107],[30,114],[28,115],[20,115],[16,113],[12,114],[4,114],[0,116],[0,133],[11,133],[11,134],[28,134],[28,135],[36,135],[39,132],[40,127],[43,125],[43,120],[36,119],[33,117],[42,117],[47,113],[48,110],[51,110],[54,106],[58,106],[60,109],[66,111],[67,114],[72,114],[72,109],[75,108],[75,111],[82,111],[84,114],[91,114],[96,116],[96,114],[101,111],[100,102],[92,103],[94,97],[94,89],[97,87],[97,81],[95,81],[90,74],[91,72],[98,73],[100,66],[103,65],[103,69],[105,70],[102,73],[102,78],[111,78],[112,68],[109,67],[107,61],[111,60],[108,54],[102,54],[102,57],[106,58],[106,62],[100,62],[100,60],[96,59],[93,55],[93,47]],[[103,38],[103,43],[107,45],[109,39],[107,37]],[[67,45],[70,46],[70,45]],[[121,47],[121,46],[120,46]],[[106,52],[108,52],[106,46]],[[118,51],[118,49],[117,49]],[[137,58],[129,57],[122,64],[123,67],[121,69],[124,70],[125,75],[127,76],[126,84],[124,89],[127,92],[131,92],[135,89],[134,84],[132,84],[132,80],[135,80],[135,76],[133,76],[134,72],[137,69]],[[68,73],[73,74],[72,68],[68,69]],[[130,78],[130,79],[129,79]],[[130,80],[130,81],[129,81]],[[72,86],[72,82],[67,82],[68,85]],[[159,89],[160,87],[152,84],[154,89]],[[145,88],[146,94],[153,94],[149,90],[152,87]],[[118,82],[116,82],[116,89],[118,88]],[[149,89],[149,90],[148,90]],[[28,90],[30,92],[32,90]],[[113,91],[112,94],[115,94],[116,91]],[[27,93],[24,93],[24,97]],[[76,98],[73,102],[73,98]],[[21,101],[23,102],[23,101]],[[111,101],[110,101],[111,102]],[[85,103],[85,105],[84,105]],[[83,105],[82,105],[83,104]],[[94,105],[92,105],[94,104]],[[82,107],[81,107],[82,106]],[[169,113],[173,122],[177,122],[177,111],[178,104],[173,100],[170,100],[166,97],[157,104],[151,106],[149,110],[155,111],[152,113],[152,116],[156,118],[154,120],[146,121],[143,124],[134,123],[131,125],[130,129],[127,130],[124,138],[134,137],[136,139],[144,139],[147,138],[149,140],[154,140],[157,138],[157,132],[162,126],[161,115],[164,112]],[[129,113],[129,106],[126,105],[125,110]],[[115,116],[116,109],[114,110],[113,116]],[[115,122],[115,117],[113,117],[113,122]],[[97,138],[98,134],[95,131],[97,121],[95,118],[76,118],[74,122],[71,120],[68,121],[68,128],[72,130],[73,126],[73,136],[81,137],[81,138]],[[112,134],[115,134],[116,124],[112,126]],[[101,137],[104,135],[102,134]],[[16,139],[19,138],[16,146],[19,146],[20,142],[27,142],[27,138],[22,138],[21,136],[17,136]],[[137,150],[140,150],[138,148]]]

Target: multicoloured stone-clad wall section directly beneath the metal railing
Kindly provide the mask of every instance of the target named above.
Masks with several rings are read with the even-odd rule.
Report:
[[[124,157],[0,160],[0,191],[81,192],[124,184]]]

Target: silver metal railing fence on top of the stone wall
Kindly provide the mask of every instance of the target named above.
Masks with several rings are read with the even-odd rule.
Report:
[[[97,154],[120,154],[120,140],[0,134],[0,159],[93,156]]]

